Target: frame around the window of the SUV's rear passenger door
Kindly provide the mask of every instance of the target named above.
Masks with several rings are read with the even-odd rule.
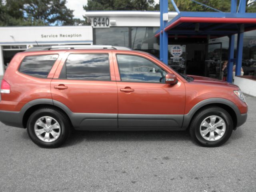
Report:
[[[104,55],[108,55],[108,69],[109,69],[109,80],[88,80],[88,79],[68,79],[67,78],[67,69],[66,69],[66,61],[68,60],[68,56],[70,56],[71,54],[104,54]],[[110,71],[110,64],[111,64],[111,62],[110,62],[110,55],[109,55],[109,53],[108,52],[106,52],[106,53],[94,53],[94,52],[86,52],[86,53],[81,53],[81,52],[79,52],[79,53],[69,53],[68,54],[68,56],[66,57],[66,59],[65,59],[65,61],[63,62],[63,65],[62,65],[62,68],[61,68],[61,70],[60,70],[60,74],[59,74],[59,78],[57,78],[57,79],[60,79],[60,80],[80,80],[80,81],[112,81],[111,80],[111,71]],[[61,76],[61,74],[62,74],[62,70],[63,70],[63,68],[65,68],[65,75],[66,75],[66,78],[60,78],[60,76]]]

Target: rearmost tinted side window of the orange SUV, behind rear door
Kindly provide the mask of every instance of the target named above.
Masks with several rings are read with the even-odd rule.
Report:
[[[27,56],[22,61],[19,71],[30,76],[47,78],[57,58],[58,54]]]

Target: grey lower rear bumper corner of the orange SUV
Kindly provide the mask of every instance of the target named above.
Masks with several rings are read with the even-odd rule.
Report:
[[[24,128],[20,112],[0,110],[0,121],[8,126]]]

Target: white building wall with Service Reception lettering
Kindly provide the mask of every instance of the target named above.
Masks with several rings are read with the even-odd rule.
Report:
[[[92,44],[91,26],[0,27],[0,45]]]

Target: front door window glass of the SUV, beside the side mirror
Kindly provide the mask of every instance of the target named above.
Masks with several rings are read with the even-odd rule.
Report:
[[[166,72],[150,60],[133,55],[117,55],[122,81],[164,82]]]

